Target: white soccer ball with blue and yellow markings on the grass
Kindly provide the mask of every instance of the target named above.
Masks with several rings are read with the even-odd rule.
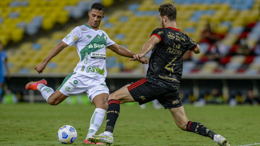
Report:
[[[77,131],[74,127],[65,125],[58,130],[57,137],[62,144],[72,144],[77,139]]]

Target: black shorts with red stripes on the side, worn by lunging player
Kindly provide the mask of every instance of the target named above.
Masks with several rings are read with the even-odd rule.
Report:
[[[147,80],[140,79],[130,83],[127,87],[129,93],[140,105],[157,99],[165,109],[182,106],[179,91],[166,89],[164,87],[148,83]]]

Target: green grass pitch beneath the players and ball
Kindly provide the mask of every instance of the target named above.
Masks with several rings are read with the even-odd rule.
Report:
[[[0,145],[63,145],[57,131],[63,125],[76,128],[72,145],[83,144],[94,105],[57,105],[19,103],[0,105]],[[184,105],[189,120],[197,121],[224,136],[229,144],[260,143],[260,107]],[[105,129],[105,119],[97,134]],[[168,110],[156,110],[151,104],[121,105],[114,129],[113,145],[212,145],[208,137],[180,130]]]

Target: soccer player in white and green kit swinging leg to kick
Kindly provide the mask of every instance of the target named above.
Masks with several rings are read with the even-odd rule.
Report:
[[[89,100],[93,102],[96,109],[90,120],[89,131],[84,143],[94,144],[87,137],[95,135],[101,126],[107,109],[109,89],[105,83],[107,75],[105,67],[106,48],[111,49],[121,56],[133,58],[134,53],[117,45],[105,31],[98,29],[102,18],[104,18],[105,7],[101,3],[94,3],[89,12],[89,22],[86,25],[75,27],[62,41],[52,49],[50,54],[42,63],[35,67],[38,73],[42,73],[47,63],[68,45],[76,45],[80,57],[79,63],[74,68],[74,73],[68,75],[56,91],[47,87],[47,81],[42,79],[29,82],[26,89],[38,90],[46,99],[47,103],[57,105],[68,96],[79,95],[86,92]],[[148,60],[139,60],[147,64]],[[102,144],[102,143],[97,143]]]

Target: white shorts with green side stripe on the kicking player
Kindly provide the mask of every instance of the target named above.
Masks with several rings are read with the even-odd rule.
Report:
[[[101,93],[109,94],[105,82],[76,72],[69,74],[58,87],[58,90],[66,96],[80,95],[85,91],[91,102],[96,95]]]

